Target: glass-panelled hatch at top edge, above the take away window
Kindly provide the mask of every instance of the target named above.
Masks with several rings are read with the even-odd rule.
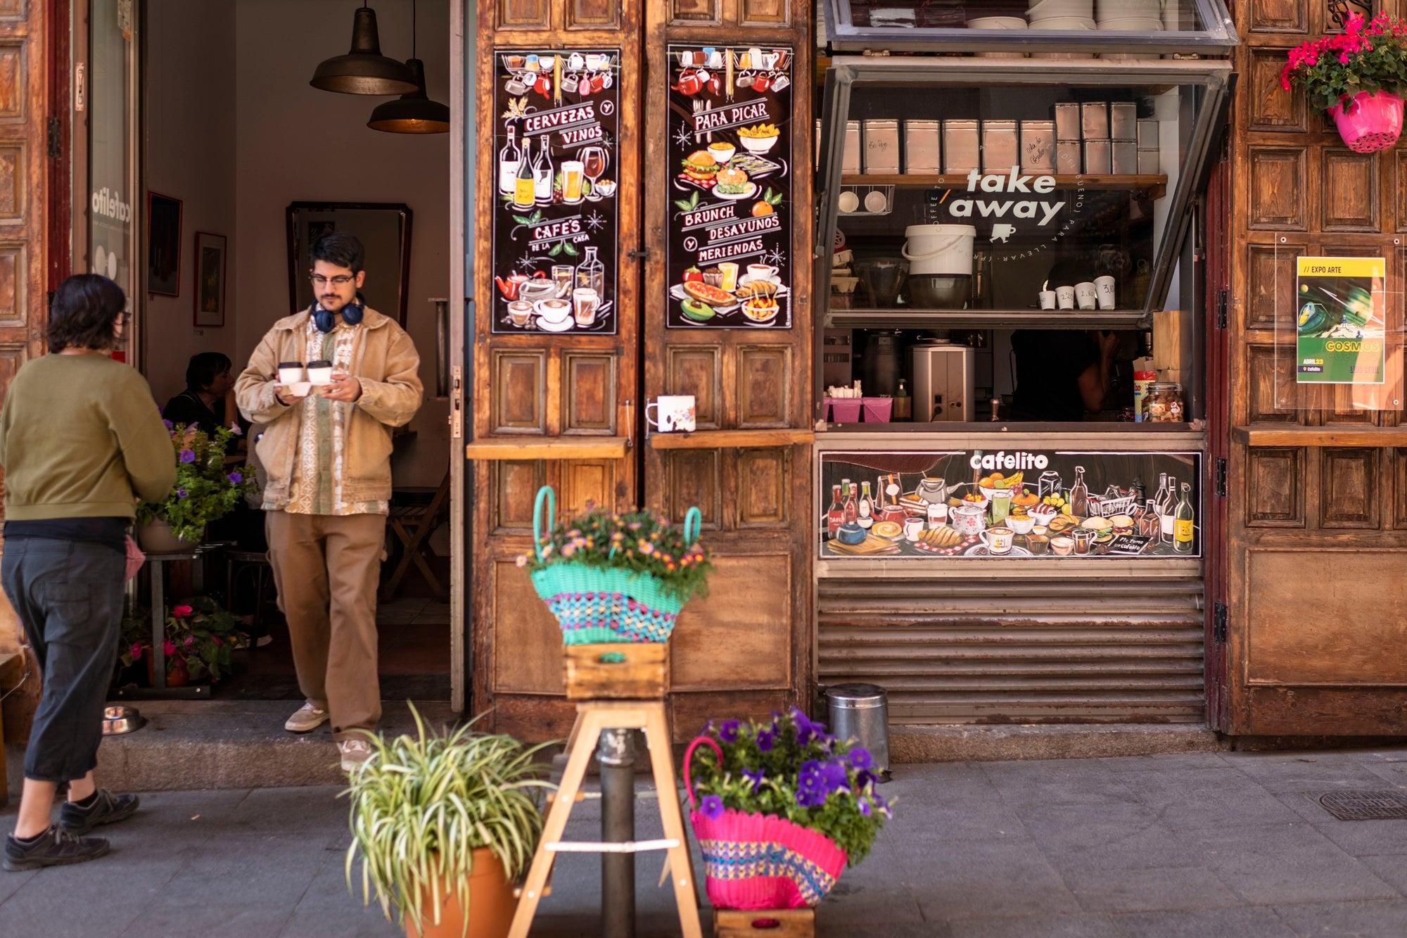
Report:
[[[1237,41],[1223,0],[827,0],[826,31],[837,51],[1047,56],[1224,55]]]

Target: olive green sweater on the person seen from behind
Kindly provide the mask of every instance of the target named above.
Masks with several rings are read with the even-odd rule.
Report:
[[[106,355],[45,355],[0,410],[4,511],[14,521],[135,517],[160,501],[176,456],[146,379]]]

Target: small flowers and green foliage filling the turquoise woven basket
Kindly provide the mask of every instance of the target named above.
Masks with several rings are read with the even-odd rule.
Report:
[[[542,570],[554,563],[581,563],[650,573],[681,603],[708,596],[713,569],[701,542],[685,542],[682,527],[649,508],[618,514],[587,503],[584,514],[559,524],[539,546],[540,559],[525,554],[518,566]]]

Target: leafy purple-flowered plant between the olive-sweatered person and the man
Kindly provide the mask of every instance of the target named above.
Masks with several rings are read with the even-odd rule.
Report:
[[[225,452],[235,438],[229,428],[221,427],[211,437],[186,424],[166,421],[166,427],[172,434],[176,484],[160,501],[139,501],[136,523],[159,518],[183,541],[200,541],[207,524],[234,511],[257,484],[243,469],[225,466]]]

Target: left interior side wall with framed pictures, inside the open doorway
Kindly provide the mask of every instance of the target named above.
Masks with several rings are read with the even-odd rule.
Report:
[[[182,200],[180,296],[146,297],[146,379],[166,403],[186,387],[196,352],[235,358],[235,8],[227,0],[149,0],[146,38],[146,186]],[[228,239],[224,328],[193,325],[197,231]]]

